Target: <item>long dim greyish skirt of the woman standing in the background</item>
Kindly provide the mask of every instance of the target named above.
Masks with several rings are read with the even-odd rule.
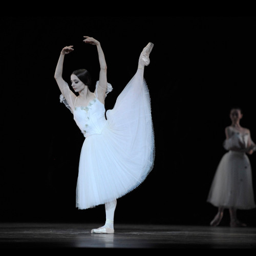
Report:
[[[246,154],[229,151],[222,157],[207,202],[224,208],[255,208],[251,165]]]

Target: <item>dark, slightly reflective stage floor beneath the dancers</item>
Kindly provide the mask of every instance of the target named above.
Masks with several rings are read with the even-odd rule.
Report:
[[[0,223],[9,249],[255,249],[256,227],[115,224],[114,234],[91,234],[97,223]]]

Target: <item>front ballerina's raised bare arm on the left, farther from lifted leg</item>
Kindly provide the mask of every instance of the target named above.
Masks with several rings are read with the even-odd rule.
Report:
[[[66,46],[64,47],[59,55],[58,63],[55,69],[55,74],[54,78],[58,84],[59,90],[61,94],[68,100],[69,97],[71,97],[72,101],[74,102],[76,95],[69,90],[69,87],[67,83],[63,80],[62,78],[62,70],[63,70],[63,62],[64,62],[64,57],[66,54],[69,54],[70,52],[73,52],[73,46]],[[67,92],[69,95],[67,95]],[[69,97],[68,97],[69,96]]]

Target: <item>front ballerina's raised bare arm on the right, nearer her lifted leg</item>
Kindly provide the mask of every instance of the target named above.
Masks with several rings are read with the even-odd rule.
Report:
[[[86,39],[83,41],[87,44],[96,45],[98,56],[99,56],[99,65],[100,65],[100,72],[99,72],[99,84],[98,84],[98,99],[104,104],[105,100],[105,92],[106,92],[106,86],[107,86],[107,79],[106,79],[106,61],[105,56],[102,51],[100,42],[94,39],[93,37],[89,36],[83,36]]]

